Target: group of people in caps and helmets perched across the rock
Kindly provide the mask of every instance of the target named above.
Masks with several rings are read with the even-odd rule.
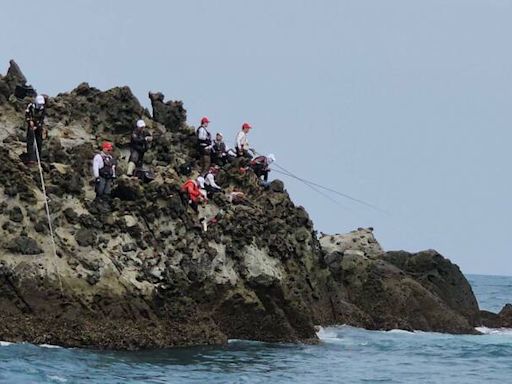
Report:
[[[25,111],[27,122],[27,164],[35,164],[41,158],[43,138],[46,136],[44,118],[46,100],[43,95],[37,95]],[[180,196],[183,201],[190,205],[195,212],[198,212],[198,205],[208,201],[215,193],[221,192],[222,188],[217,184],[215,177],[221,167],[241,159],[242,171],[251,169],[263,183],[268,181],[270,164],[275,161],[275,156],[258,155],[250,148],[248,134],[252,129],[249,123],[243,123],[241,130],[235,138],[235,148],[229,149],[222,133],[217,132],[215,138],[208,129],[210,119],[203,117],[199,127],[196,129],[197,152],[200,173],[195,179],[187,180],[180,188]],[[128,159],[127,175],[139,177],[143,171],[144,154],[152,142],[152,135],[146,130],[146,123],[139,119],[130,139],[130,156]],[[116,160],[112,155],[113,144],[109,141],[103,142],[101,151],[94,155],[92,161],[92,172],[95,181],[96,198],[101,199],[110,195],[113,180],[116,178]]]

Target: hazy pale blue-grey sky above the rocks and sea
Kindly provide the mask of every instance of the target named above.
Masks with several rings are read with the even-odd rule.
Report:
[[[512,0],[9,1],[0,73],[161,91],[228,145],[248,121],[279,166],[380,208],[273,172],[319,232],[512,275],[510,20]]]

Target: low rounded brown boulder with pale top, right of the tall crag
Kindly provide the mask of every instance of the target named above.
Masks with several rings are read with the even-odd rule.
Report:
[[[325,263],[374,329],[474,333],[479,317],[471,286],[435,251],[384,252],[371,230],[323,236]]]

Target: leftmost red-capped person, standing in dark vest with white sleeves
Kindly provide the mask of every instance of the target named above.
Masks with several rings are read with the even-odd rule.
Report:
[[[112,150],[112,143],[103,142],[101,152],[97,153],[92,161],[96,199],[110,195],[112,180],[116,178],[116,161],[112,157]]]

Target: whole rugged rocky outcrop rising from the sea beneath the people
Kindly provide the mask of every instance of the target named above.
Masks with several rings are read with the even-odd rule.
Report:
[[[203,232],[178,194],[186,178],[176,170],[195,156],[186,111],[150,94],[152,118],[127,87],[81,84],[48,100],[42,158],[55,257],[38,170],[19,160],[28,100],[7,89],[0,339],[133,349],[228,338],[312,342],[315,325],[340,323],[474,332],[476,300],[448,260],[434,251],[384,252],[371,229],[319,240],[281,181],[264,189],[236,161],[217,177],[226,193],[200,208],[211,219]],[[123,175],[127,133],[141,117],[154,136],[149,184]],[[104,139],[115,143],[121,176],[111,201],[97,202],[90,167]],[[230,202],[234,190],[246,198]]]

